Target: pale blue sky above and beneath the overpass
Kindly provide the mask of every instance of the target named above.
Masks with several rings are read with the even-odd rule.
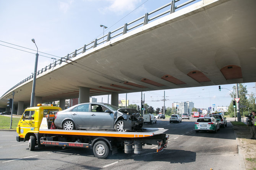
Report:
[[[36,53],[33,51],[36,50],[36,46],[31,41],[32,38],[35,39],[39,51],[54,55],[54,58],[64,57],[102,36],[103,27],[100,25],[108,27],[104,30],[105,33],[115,30],[170,1],[0,0],[0,96],[32,75]],[[179,4],[183,2],[185,0],[181,0]],[[53,56],[42,54],[47,58],[40,54],[42,53],[39,52],[37,70],[53,63]],[[221,87],[232,90],[234,85]],[[256,92],[254,82],[245,85],[249,94]],[[207,108],[212,104],[228,106],[232,100],[230,91],[219,91],[218,86],[165,90],[165,107],[172,107],[173,102],[181,101],[192,101],[197,108]],[[99,102],[108,102],[107,95],[93,97]],[[119,99],[126,99],[126,94],[120,94]],[[127,99],[129,104],[140,105],[141,92],[128,93]],[[163,99],[164,90],[143,92],[143,100],[154,109],[164,106]]]

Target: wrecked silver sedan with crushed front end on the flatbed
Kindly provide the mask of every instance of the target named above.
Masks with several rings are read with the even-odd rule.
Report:
[[[119,109],[107,103],[82,103],[57,112],[54,123],[64,130],[139,130],[143,119],[136,109]]]

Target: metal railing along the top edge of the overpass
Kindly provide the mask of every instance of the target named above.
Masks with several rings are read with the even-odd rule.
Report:
[[[99,38],[96,38],[94,41],[87,43],[86,45],[84,45],[83,47],[79,48],[78,50],[73,51],[70,54],[67,54],[65,57],[58,59],[57,61],[55,60],[54,63],[50,63],[48,66],[45,66],[44,68],[40,69],[37,71],[37,75],[42,74],[43,72],[46,72],[47,70],[53,69],[55,66],[57,66],[57,64],[62,64],[63,62],[68,62],[70,60],[72,60],[73,58],[75,58],[77,55],[82,54],[88,50],[91,50],[92,48],[97,47],[97,45],[101,45],[104,42],[109,42],[110,40],[112,40],[113,38],[117,38],[121,35],[126,34],[127,32],[134,30],[140,26],[144,26],[146,24],[148,24],[151,21],[154,21],[156,19],[159,19],[162,16],[168,15],[168,14],[172,14],[175,12],[175,10],[177,10],[178,8],[181,8],[183,6],[189,6],[188,4],[196,1],[196,0],[188,0],[180,5],[175,6],[175,3],[178,2],[180,0],[172,0],[170,3],[165,4],[164,6],[161,6],[160,8],[157,8],[154,11],[151,11],[149,13],[146,13],[145,15],[131,21],[128,23],[125,23],[124,26],[119,27],[111,32],[108,32],[108,34],[103,35]],[[154,15],[154,16],[153,16]],[[151,17],[151,18],[149,18]],[[33,74],[26,77],[24,80],[22,80],[21,82],[17,83],[14,87],[10,88],[8,91],[6,91],[6,93],[8,93],[9,91],[13,90],[14,88],[18,87],[19,85],[23,84],[24,82],[27,82],[28,80],[33,78]],[[5,93],[5,94],[6,94]],[[5,95],[3,94],[3,96]]]

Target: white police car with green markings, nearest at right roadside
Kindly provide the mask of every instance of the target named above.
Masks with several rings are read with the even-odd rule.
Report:
[[[217,133],[217,130],[220,130],[220,123],[215,117],[200,117],[194,123],[194,128],[196,132],[202,130]]]

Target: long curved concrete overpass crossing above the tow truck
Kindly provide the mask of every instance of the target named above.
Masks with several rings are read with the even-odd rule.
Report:
[[[36,103],[110,94],[117,105],[119,93],[256,82],[256,1],[180,6],[171,2],[167,13],[145,14],[40,69]],[[12,91],[16,108],[29,106],[31,90],[29,76],[0,107]]]

